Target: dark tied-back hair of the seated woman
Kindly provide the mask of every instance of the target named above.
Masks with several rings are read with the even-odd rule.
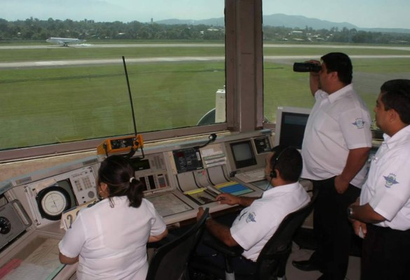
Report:
[[[130,207],[138,208],[141,205],[144,197],[142,183],[134,178],[134,169],[130,161],[122,155],[110,155],[101,162],[98,183],[107,184],[111,207],[114,207],[111,197],[124,195],[128,197]]]

